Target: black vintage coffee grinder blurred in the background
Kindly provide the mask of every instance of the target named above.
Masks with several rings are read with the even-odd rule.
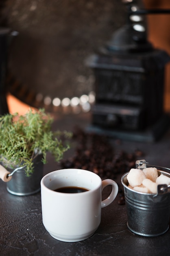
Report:
[[[142,1],[124,0],[126,25],[111,41],[87,59],[95,75],[96,103],[90,131],[118,139],[155,141],[169,128],[163,112],[165,65],[170,56],[147,40],[147,13]]]

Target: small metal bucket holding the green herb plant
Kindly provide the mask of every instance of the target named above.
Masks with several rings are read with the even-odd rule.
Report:
[[[12,178],[7,180],[7,191],[13,195],[33,195],[40,191],[40,182],[43,177],[42,155],[38,155],[33,159],[34,172],[30,177],[26,177],[25,166],[16,168],[7,167],[8,176]]]

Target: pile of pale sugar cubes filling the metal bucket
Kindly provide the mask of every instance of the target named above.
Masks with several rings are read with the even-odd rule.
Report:
[[[157,193],[158,184],[170,185],[170,177],[161,174],[158,177],[158,171],[155,167],[141,169],[132,168],[127,175],[129,188],[142,193]]]

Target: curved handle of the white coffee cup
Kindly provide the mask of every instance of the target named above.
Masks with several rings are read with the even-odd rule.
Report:
[[[116,195],[118,195],[118,184],[114,180],[110,180],[110,179],[102,180],[102,190],[106,186],[109,186],[109,185],[112,186],[112,190],[111,190],[110,195],[105,200],[103,200],[101,202],[101,207],[102,208],[111,204],[111,202],[113,202],[113,200],[115,200]]]

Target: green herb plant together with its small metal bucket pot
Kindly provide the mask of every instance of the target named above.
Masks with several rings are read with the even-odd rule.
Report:
[[[52,131],[52,123],[53,118],[44,109],[0,117],[0,162],[9,176],[13,173],[7,182],[10,193],[30,195],[39,191],[47,152],[59,162],[68,150],[71,132]]]

